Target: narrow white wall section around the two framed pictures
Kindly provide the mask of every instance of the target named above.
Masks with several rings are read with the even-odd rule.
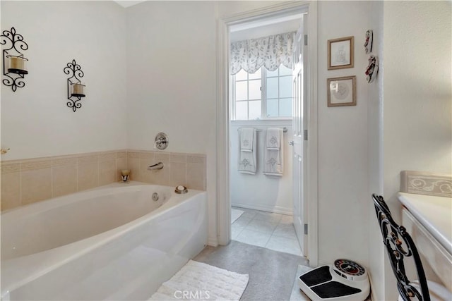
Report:
[[[369,84],[364,75],[368,1],[319,1],[319,263],[369,266]],[[376,32],[378,35],[378,32]],[[327,70],[327,41],[355,37],[355,67]],[[356,75],[356,106],[327,107],[326,80]]]

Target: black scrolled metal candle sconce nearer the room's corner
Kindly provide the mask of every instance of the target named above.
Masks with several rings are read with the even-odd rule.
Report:
[[[68,99],[67,106],[72,109],[72,111],[76,111],[82,107],[80,103],[82,97],[85,97],[84,88],[85,85],[82,85],[80,78],[83,78],[83,71],[81,66],[76,63],[76,60],[72,60],[71,63],[68,63],[66,67],[63,69],[64,73],[67,75],[71,75],[68,78]]]

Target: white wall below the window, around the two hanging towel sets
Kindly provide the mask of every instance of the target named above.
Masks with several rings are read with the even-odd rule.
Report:
[[[257,132],[255,175],[239,173],[239,128],[259,128]],[[284,133],[284,173],[282,177],[263,174],[263,150],[267,128],[287,128]],[[251,208],[281,214],[293,213],[292,149],[289,140],[293,135],[292,121],[232,121],[230,123],[230,200],[232,206]]]

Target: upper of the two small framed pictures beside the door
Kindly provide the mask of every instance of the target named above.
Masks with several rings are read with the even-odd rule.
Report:
[[[328,39],[328,70],[353,67],[353,37]]]

